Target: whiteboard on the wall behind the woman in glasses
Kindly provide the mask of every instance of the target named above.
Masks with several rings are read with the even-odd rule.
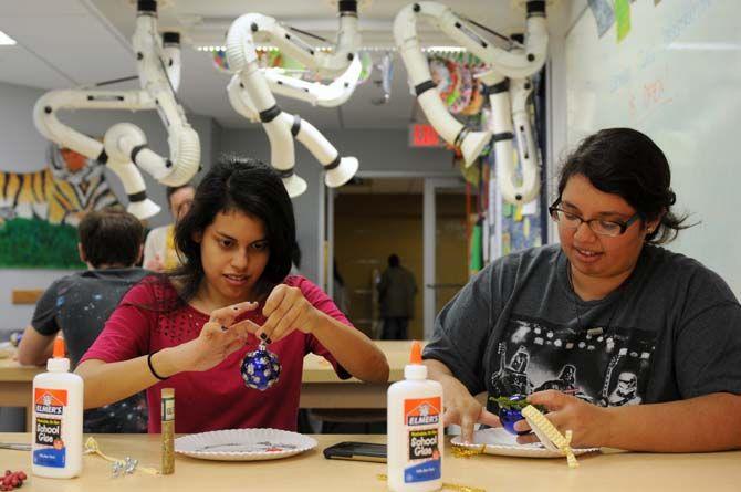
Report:
[[[671,165],[678,212],[699,226],[667,248],[701,261],[741,297],[739,0],[630,3],[630,31],[602,36],[589,9],[566,35],[567,143],[629,126]]]

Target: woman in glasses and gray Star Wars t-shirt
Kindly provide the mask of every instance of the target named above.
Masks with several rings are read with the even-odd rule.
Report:
[[[520,394],[573,447],[741,448],[741,305],[718,274],[659,245],[688,227],[661,149],[630,128],[597,132],[557,191],[560,243],[498,259],[437,316],[424,358],[446,422],[470,442],[474,422],[500,425],[497,398]]]

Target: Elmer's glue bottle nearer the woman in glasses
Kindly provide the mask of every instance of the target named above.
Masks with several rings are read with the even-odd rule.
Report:
[[[419,342],[411,344],[404,380],[388,387],[388,489],[426,492],[442,486],[442,386],[427,379]]]

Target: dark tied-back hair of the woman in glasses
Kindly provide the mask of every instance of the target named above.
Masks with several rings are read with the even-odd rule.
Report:
[[[620,196],[644,220],[660,217],[659,226],[646,242],[664,244],[686,226],[687,216],[671,211],[677,196],[671,190],[671,171],[661,149],[646,135],[632,128],[606,128],[586,137],[566,157],[559,178],[559,197],[574,175],[583,175],[592,186]]]

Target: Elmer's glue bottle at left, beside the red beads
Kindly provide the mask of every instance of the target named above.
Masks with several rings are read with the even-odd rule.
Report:
[[[34,475],[71,479],[82,471],[83,381],[70,373],[64,339],[54,339],[46,373],[33,378],[31,469]]]

